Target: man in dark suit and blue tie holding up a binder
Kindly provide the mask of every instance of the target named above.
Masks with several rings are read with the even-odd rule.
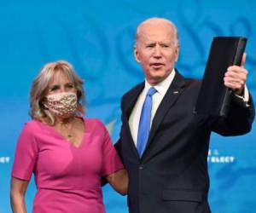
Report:
[[[245,87],[247,70],[230,66],[224,85],[233,89],[226,118],[195,114],[201,81],[183,78],[177,28],[152,18],[137,27],[134,55],[145,82],[122,98],[122,128],[116,144],[129,173],[130,213],[207,213],[207,153],[211,132],[242,135],[251,130],[254,109]]]

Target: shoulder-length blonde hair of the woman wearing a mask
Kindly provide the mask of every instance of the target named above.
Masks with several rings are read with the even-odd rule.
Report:
[[[83,80],[79,78],[74,71],[73,66],[65,60],[50,62],[43,66],[38,76],[32,82],[30,90],[30,116],[33,119],[40,120],[44,123],[54,125],[55,118],[52,113],[44,107],[43,101],[49,87],[49,82],[54,78],[56,72],[64,72],[67,78],[74,84],[77,89],[78,108],[77,114],[84,115],[84,89]]]

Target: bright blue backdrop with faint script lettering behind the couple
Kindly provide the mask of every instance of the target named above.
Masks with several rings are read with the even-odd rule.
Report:
[[[133,58],[136,26],[148,17],[173,20],[180,35],[177,68],[201,78],[214,36],[245,36],[247,86],[256,100],[255,1],[15,1],[0,0],[0,212],[10,212],[9,180],[15,144],[29,120],[28,93],[45,63],[68,60],[84,78],[86,116],[100,118],[113,141],[119,136],[119,101],[143,80]],[[255,212],[255,124],[248,135],[212,135],[209,151],[212,212]],[[35,186],[26,193],[32,210]],[[103,189],[109,213],[127,212],[125,197]]]

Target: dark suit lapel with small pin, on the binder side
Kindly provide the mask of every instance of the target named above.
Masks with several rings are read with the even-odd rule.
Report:
[[[169,89],[166,92],[166,95],[164,96],[163,100],[160,103],[160,106],[158,107],[154,115],[151,130],[148,136],[147,147],[143,153],[143,157],[144,154],[147,153],[147,150],[150,147],[150,143],[153,141],[154,135],[156,134],[161,121],[163,120],[163,118],[165,118],[166,112],[168,112],[168,110],[172,107],[175,101],[177,101],[177,98],[179,97],[179,95],[181,95],[184,86],[185,80],[176,70],[175,78],[173,79],[173,82],[171,83]]]

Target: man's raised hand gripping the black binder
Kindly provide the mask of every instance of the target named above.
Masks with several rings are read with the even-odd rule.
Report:
[[[245,83],[247,81],[247,69],[244,68],[246,54],[242,55],[241,66],[229,66],[224,76],[224,85],[233,89],[236,95],[243,95]]]

